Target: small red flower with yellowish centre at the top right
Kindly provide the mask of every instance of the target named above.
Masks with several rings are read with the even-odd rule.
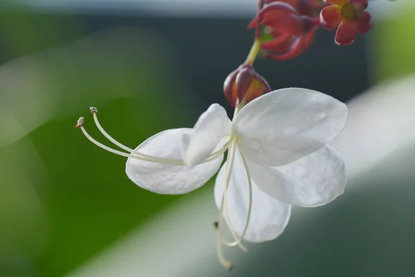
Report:
[[[366,11],[367,0],[324,0],[331,4],[320,12],[320,23],[326,30],[338,27],[335,43],[352,44],[356,35],[363,35],[371,28],[371,16]]]

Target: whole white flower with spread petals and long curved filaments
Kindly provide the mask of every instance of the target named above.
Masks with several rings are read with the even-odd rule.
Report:
[[[234,242],[264,242],[280,235],[291,206],[320,206],[341,195],[346,168],[340,154],[328,145],[343,129],[347,107],[331,96],[308,89],[279,89],[260,96],[240,110],[233,121],[225,109],[211,105],[193,129],[168,129],[135,150],[109,136],[128,153],[119,152],[86,136],[95,144],[129,157],[127,176],[138,186],[163,194],[189,193],[205,184],[228,160],[216,177],[214,197]],[[182,159],[183,157],[183,159]]]

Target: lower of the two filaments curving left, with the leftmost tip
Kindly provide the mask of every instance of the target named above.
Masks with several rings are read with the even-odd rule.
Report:
[[[183,162],[183,160],[164,159],[164,158],[158,158],[158,157],[147,158],[147,157],[142,157],[142,156],[136,155],[136,153],[129,154],[129,153],[125,153],[125,152],[121,152],[121,151],[109,148],[107,145],[103,145],[102,143],[100,143],[100,142],[96,141],[95,139],[93,139],[93,137],[90,136],[88,134],[88,132],[86,132],[86,129],[84,128],[83,125],[79,125],[78,127],[80,127],[80,129],[82,130],[82,133],[84,133],[84,135],[86,136],[86,139],[89,139],[89,141],[91,141],[92,143],[94,143],[98,147],[100,147],[104,150],[107,150],[107,151],[109,151],[113,154],[118,154],[122,157],[138,159],[138,160],[141,160],[141,161],[149,161],[151,163],[163,163],[163,164],[167,164],[167,165],[171,165],[171,166],[185,166],[185,163]],[[223,148],[221,148],[221,150],[212,153],[212,155],[208,159],[205,159],[205,160],[201,161],[201,163],[208,163],[209,161],[212,161],[212,160],[220,157],[221,154],[223,154],[226,150],[228,150],[228,145],[229,145],[229,142],[226,143],[225,145],[223,145]],[[201,163],[199,163],[199,164],[201,164]]]

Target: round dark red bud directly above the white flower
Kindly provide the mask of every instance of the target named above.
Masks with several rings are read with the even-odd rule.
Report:
[[[255,72],[252,66],[241,65],[232,71],[223,83],[223,92],[232,107],[237,102],[246,104],[255,98],[271,91],[266,80]]]

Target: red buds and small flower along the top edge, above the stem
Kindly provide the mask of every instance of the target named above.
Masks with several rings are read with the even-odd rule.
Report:
[[[338,27],[335,43],[349,45],[357,33],[371,28],[367,0],[264,0],[248,28],[265,26],[273,39],[261,44],[265,56],[273,60],[291,60],[313,43],[319,26],[326,30]]]

